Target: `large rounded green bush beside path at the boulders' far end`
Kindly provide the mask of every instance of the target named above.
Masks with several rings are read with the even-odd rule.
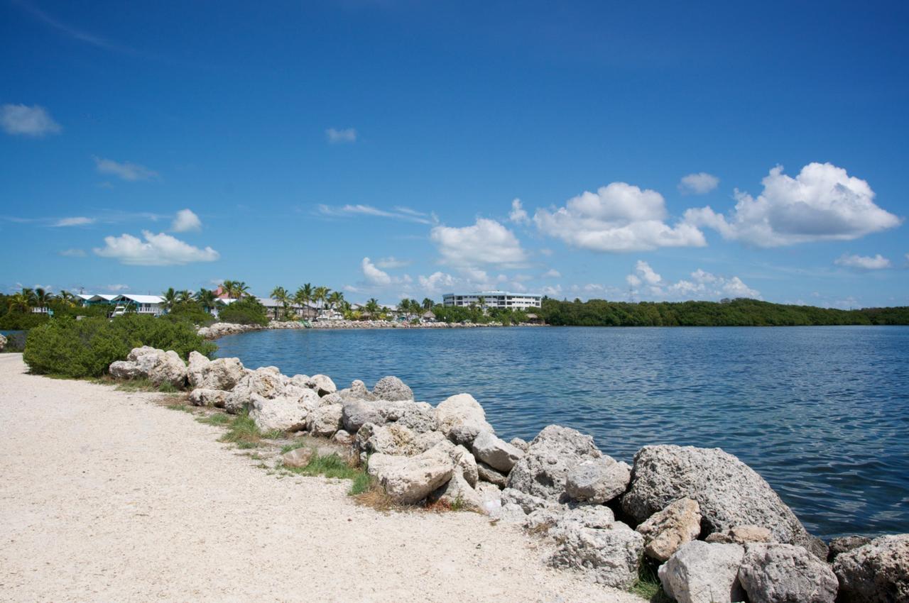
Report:
[[[64,317],[29,331],[23,360],[38,374],[99,377],[111,362],[124,360],[130,350],[143,345],[176,351],[184,359],[190,351],[211,356],[217,349],[184,321],[137,314],[112,320]]]

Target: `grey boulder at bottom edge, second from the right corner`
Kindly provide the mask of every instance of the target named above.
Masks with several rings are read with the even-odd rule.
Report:
[[[747,545],[738,578],[751,603],[834,603],[839,586],[825,561],[782,543]]]

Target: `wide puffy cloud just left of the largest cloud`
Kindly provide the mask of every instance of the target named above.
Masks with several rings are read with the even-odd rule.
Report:
[[[584,192],[550,213],[537,210],[540,232],[594,252],[636,252],[659,247],[703,247],[704,234],[694,225],[665,223],[663,195],[626,183]]]

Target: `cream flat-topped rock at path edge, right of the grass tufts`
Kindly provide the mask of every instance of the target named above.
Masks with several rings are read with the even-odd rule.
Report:
[[[413,504],[425,499],[454,475],[454,461],[438,448],[414,457],[377,453],[369,457],[369,474],[396,502]]]

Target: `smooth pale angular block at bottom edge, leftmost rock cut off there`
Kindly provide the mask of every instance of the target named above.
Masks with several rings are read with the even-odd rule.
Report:
[[[678,603],[744,600],[738,571],[744,549],[737,544],[688,542],[657,570],[663,590]]]

